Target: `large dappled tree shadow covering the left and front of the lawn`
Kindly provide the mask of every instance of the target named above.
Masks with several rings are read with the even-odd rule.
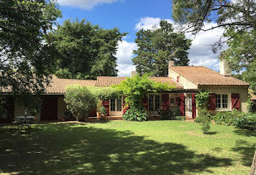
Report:
[[[17,174],[183,174],[231,166],[230,159],[197,154],[130,131],[78,124],[44,124],[31,134],[0,133],[0,172]]]

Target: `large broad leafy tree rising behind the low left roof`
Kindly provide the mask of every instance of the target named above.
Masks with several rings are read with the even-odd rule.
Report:
[[[97,76],[117,76],[117,43],[126,33],[113,28],[105,30],[85,20],[66,20],[50,32],[48,43],[59,51],[59,78],[96,79]]]

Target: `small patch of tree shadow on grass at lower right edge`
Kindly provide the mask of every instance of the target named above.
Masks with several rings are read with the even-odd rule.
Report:
[[[240,153],[243,165],[251,166],[255,153],[255,143],[248,143],[240,139],[236,141],[236,147],[232,148],[232,151]]]

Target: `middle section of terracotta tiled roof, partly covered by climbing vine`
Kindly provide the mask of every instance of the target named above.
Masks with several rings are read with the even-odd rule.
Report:
[[[115,76],[98,76],[96,86],[105,87],[120,84],[121,81],[125,80],[126,77],[115,77]],[[162,83],[174,84],[176,88],[182,88],[180,84],[168,77],[151,77],[151,80]]]

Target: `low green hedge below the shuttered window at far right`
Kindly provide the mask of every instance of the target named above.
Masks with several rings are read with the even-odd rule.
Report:
[[[228,112],[218,112],[212,119],[216,124],[232,125],[236,128],[256,130],[256,114],[245,113],[237,110]]]

